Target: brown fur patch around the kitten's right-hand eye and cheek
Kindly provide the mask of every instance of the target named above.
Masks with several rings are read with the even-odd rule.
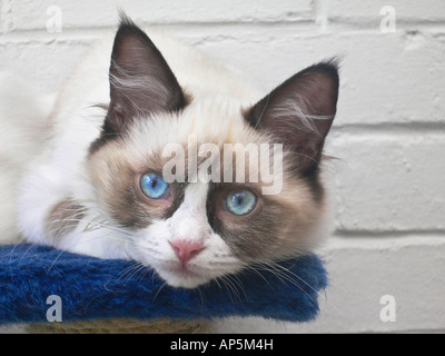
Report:
[[[237,217],[222,206],[234,184],[215,185],[207,204],[211,227],[245,261],[304,254],[312,243],[310,229],[320,217],[320,205],[314,201],[310,187],[304,180],[296,180],[293,185],[285,184],[279,195],[261,196],[260,186],[245,185],[244,189],[256,192],[258,207],[247,216]]]

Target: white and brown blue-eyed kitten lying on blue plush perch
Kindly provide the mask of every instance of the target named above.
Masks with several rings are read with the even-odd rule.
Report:
[[[122,17],[113,44],[93,48],[76,69],[33,137],[39,146],[16,154],[32,159],[8,188],[19,197],[10,234],[132,259],[186,288],[310,251],[325,210],[319,165],[336,113],[336,65],[306,68],[264,97],[196,50],[150,38]],[[248,145],[270,150],[237,166]],[[166,177],[184,172],[175,157],[185,160],[182,181]],[[259,179],[249,180],[257,161]],[[214,179],[202,179],[210,170]],[[234,178],[241,171],[246,181]]]

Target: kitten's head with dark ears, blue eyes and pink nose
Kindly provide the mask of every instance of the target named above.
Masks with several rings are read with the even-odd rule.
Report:
[[[323,216],[319,162],[336,113],[335,63],[298,72],[254,105],[215,92],[182,88],[147,34],[121,21],[88,171],[102,209],[129,231],[130,256],[172,286],[306,254]],[[236,159],[246,147],[243,165]]]

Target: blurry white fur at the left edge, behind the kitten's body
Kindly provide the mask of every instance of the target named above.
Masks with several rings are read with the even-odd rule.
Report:
[[[19,179],[42,149],[55,96],[23,78],[0,72],[0,244],[20,240],[17,226]]]

